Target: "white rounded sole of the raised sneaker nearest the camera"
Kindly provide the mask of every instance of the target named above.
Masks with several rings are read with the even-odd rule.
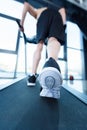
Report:
[[[40,96],[50,98],[60,98],[60,89],[62,85],[61,73],[54,67],[47,67],[42,70],[38,77],[42,87]]]

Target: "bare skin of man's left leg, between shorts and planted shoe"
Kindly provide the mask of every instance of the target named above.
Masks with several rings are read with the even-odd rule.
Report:
[[[37,44],[36,50],[33,55],[32,74],[35,74],[37,72],[37,67],[38,67],[39,61],[41,59],[42,49],[43,49],[43,41],[40,41]]]

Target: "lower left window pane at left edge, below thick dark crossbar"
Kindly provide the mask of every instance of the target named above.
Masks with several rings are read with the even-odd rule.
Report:
[[[0,77],[13,77],[16,55],[0,53]]]

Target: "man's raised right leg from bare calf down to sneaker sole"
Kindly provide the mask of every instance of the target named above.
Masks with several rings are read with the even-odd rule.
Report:
[[[39,75],[39,82],[42,87],[40,96],[56,99],[60,98],[62,76],[60,67],[57,63],[60,46],[61,45],[56,38],[51,37],[48,40],[48,60],[46,61],[41,74]]]

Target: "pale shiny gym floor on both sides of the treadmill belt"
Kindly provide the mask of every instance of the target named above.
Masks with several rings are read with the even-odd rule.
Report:
[[[19,76],[16,79],[0,79],[0,90],[9,87],[11,84],[20,81],[25,76]],[[86,80],[64,80],[63,87],[87,104],[87,81]]]

